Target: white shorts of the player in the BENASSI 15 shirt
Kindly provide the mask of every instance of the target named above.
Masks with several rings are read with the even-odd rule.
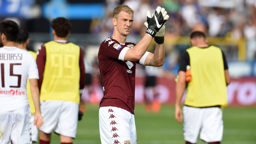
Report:
[[[1,144],[32,144],[29,105],[0,113]]]

